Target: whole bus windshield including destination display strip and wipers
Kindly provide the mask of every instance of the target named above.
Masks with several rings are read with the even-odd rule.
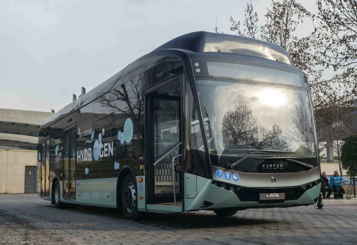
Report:
[[[311,99],[301,72],[221,59],[193,64],[213,165],[226,167],[248,154],[235,164],[237,170],[259,172],[283,162],[299,165],[296,172],[307,170],[296,163],[318,165]]]

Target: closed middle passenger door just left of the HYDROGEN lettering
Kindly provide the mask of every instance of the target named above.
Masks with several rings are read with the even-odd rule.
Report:
[[[76,199],[76,126],[63,131],[63,198]]]

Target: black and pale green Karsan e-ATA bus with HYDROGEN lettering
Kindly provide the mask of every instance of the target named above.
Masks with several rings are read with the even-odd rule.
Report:
[[[320,186],[306,75],[242,36],[174,38],[39,130],[37,193],[57,208],[228,216],[316,204]]]

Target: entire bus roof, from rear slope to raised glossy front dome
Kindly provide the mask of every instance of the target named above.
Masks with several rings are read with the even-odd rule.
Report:
[[[178,54],[177,52],[182,53],[182,51],[183,53],[188,54],[190,52],[195,52],[196,54],[213,52],[218,55],[218,50],[222,53],[221,55],[224,55],[224,53],[226,53],[250,56],[252,59],[263,58],[270,61],[278,61],[280,62],[280,64],[287,64],[291,68],[295,68],[287,52],[279,45],[237,35],[213,33],[207,31],[191,32],[176,37],[154,49],[149,54],[146,54],[138,60],[133,61],[132,63],[124,67],[122,70],[114,74],[112,77],[100,83],[94,89],[77,98],[75,101],[72,101],[71,103],[60,109],[57,113],[44,120],[41,124],[40,130],[43,127],[49,126],[53,122],[56,122],[64,115],[67,115],[68,113],[79,109],[81,106],[86,105],[94,98],[99,97],[105,92],[110,91],[110,89],[113,88],[120,76],[125,76],[127,73],[130,73],[132,70],[138,68],[138,66],[143,65],[142,62],[145,61],[148,57],[155,57],[157,55],[159,56],[159,54],[162,55],[162,53],[173,55],[174,53]],[[161,52],[155,54],[157,53],[155,51]],[[247,58],[248,57],[246,57],[246,59]]]

